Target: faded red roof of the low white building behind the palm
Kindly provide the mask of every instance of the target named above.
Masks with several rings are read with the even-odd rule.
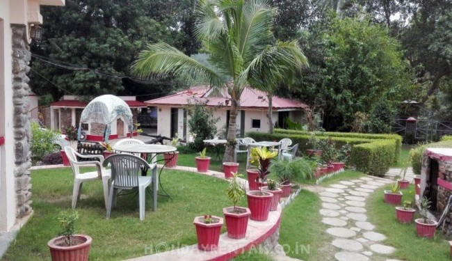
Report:
[[[230,98],[226,93],[220,95],[211,95],[209,86],[194,86],[186,90],[181,90],[175,94],[160,97],[154,100],[146,101],[148,106],[159,105],[179,105],[185,106],[188,104],[190,98],[197,98],[198,100],[209,99],[208,106],[225,106],[225,101]],[[273,109],[302,109],[307,107],[306,104],[295,100],[290,100],[278,96],[273,96]],[[245,88],[241,95],[240,107],[248,109],[263,109],[268,108],[268,98],[266,93],[252,88]]]

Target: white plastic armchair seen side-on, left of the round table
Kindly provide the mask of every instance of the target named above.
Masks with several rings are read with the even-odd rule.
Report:
[[[108,202],[108,191],[110,189],[111,171],[102,166],[104,156],[102,155],[81,155],[76,152],[71,146],[65,146],[65,153],[70,161],[72,173],[74,173],[74,189],[72,190],[72,209],[75,208],[77,200],[80,199],[81,187],[83,182],[92,180],[102,180],[104,186],[104,201],[105,207]],[[92,159],[90,161],[77,161],[77,157],[82,159]],[[99,159],[100,161],[97,161]],[[83,166],[95,165],[97,170],[90,172],[81,172]]]

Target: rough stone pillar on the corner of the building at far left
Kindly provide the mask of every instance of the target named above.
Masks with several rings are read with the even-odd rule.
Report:
[[[24,24],[11,24],[13,45],[13,118],[15,151],[16,217],[22,218],[31,212],[31,167],[30,122],[29,122],[29,61],[31,53],[26,39]]]

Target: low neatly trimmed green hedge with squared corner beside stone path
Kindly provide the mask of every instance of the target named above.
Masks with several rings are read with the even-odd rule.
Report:
[[[402,137],[397,134],[360,134],[342,132],[316,132],[318,139],[331,138],[337,148],[342,145],[352,145],[350,163],[356,166],[357,171],[369,175],[382,176],[389,170],[392,161],[400,157]],[[309,132],[289,129],[276,129],[275,134],[248,132],[256,141],[280,141],[284,138],[298,143],[298,154],[310,149],[308,144]]]

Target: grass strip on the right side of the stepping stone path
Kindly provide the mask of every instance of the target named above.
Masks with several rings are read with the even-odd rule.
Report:
[[[389,258],[410,261],[437,261],[450,260],[449,242],[437,230],[434,239],[418,237],[414,222],[401,224],[396,221],[394,205],[384,203],[383,190],[388,187],[376,189],[366,200],[367,216],[369,222],[376,226],[376,232],[387,236],[384,244],[394,246],[397,251]],[[411,185],[409,189],[414,189]],[[407,189],[403,190],[405,193]],[[417,215],[414,216],[417,218]]]

